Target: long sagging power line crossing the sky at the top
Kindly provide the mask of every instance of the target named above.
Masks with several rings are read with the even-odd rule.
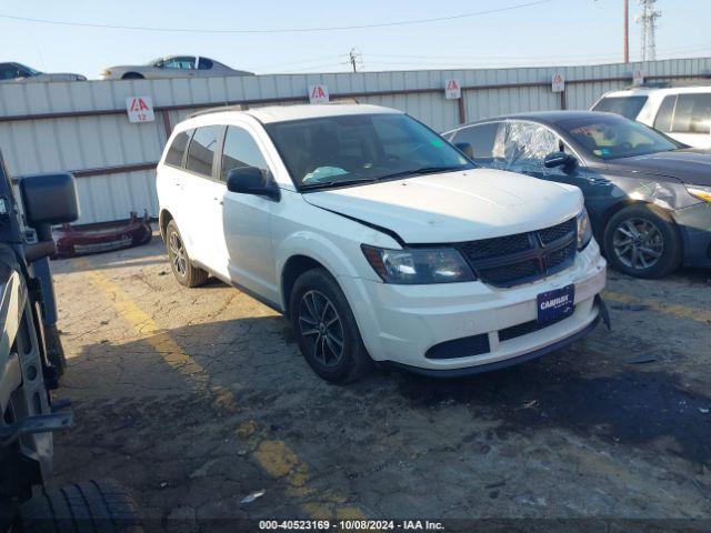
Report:
[[[379,23],[358,24],[358,26],[338,26],[338,27],[323,27],[323,28],[281,28],[281,29],[272,28],[272,29],[259,29],[259,30],[248,30],[248,29],[208,30],[208,29],[200,29],[200,28],[158,28],[158,27],[148,27],[148,26],[116,26],[116,24],[100,24],[100,23],[91,23],[91,22],[70,22],[70,21],[61,21],[61,20],[33,19],[29,17],[17,17],[17,16],[2,14],[2,13],[0,13],[0,18],[9,19],[9,20],[19,20],[22,22],[41,23],[41,24],[99,28],[99,29],[106,29],[106,30],[133,30],[133,31],[157,31],[157,32],[180,32],[180,33],[299,33],[299,32],[313,32],[313,31],[363,30],[363,29],[371,29],[371,28],[392,28],[392,27],[399,27],[399,26],[414,26],[414,24],[427,24],[432,22],[445,22],[449,20],[467,19],[471,17],[480,17],[483,14],[512,11],[514,9],[530,8],[533,6],[549,3],[551,1],[553,0],[537,0],[533,2],[508,6],[505,8],[489,9],[485,11],[473,11],[470,13],[460,13],[460,14],[452,14],[448,17],[437,17],[431,19],[400,20],[400,21],[393,21],[393,22],[379,22]]]

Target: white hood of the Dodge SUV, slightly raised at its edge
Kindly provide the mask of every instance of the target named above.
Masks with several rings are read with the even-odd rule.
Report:
[[[395,232],[408,243],[460,242],[539,230],[582,209],[572,185],[465,170],[304,193],[312,205]]]

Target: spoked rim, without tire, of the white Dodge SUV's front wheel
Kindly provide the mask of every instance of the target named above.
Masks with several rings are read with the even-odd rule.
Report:
[[[313,359],[324,366],[337,366],[343,358],[343,324],[331,301],[311,290],[299,303],[299,329]]]

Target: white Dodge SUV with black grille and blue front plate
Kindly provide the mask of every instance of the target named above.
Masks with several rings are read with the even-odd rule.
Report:
[[[158,195],[178,281],[210,273],[284,313],[329,381],[373,360],[501,368],[607,316],[580,190],[478,169],[392,109],[193,115],[168,141]]]

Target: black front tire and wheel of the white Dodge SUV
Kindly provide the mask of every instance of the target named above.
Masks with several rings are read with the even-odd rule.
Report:
[[[311,296],[314,295],[318,295],[320,306],[319,302],[313,306],[314,300],[311,300]],[[311,308],[308,300],[311,301]],[[343,291],[328,271],[319,268],[301,274],[293,284],[289,301],[289,314],[297,342],[304,359],[319,376],[333,383],[348,383],[368,374],[373,366],[373,361],[363,345],[356,318]],[[304,322],[304,316],[300,316],[301,309],[307,314],[309,309],[314,309],[313,314],[321,316],[320,324],[330,322],[330,328],[333,330],[326,331],[323,335],[320,333],[304,335],[304,331],[311,328],[308,322]],[[310,316],[313,314],[310,314],[307,320],[311,320]],[[327,314],[326,319],[324,314]],[[338,322],[333,322],[333,318],[337,318]],[[311,325],[319,328],[319,323]],[[321,342],[323,361],[318,359],[318,350],[314,353],[314,346],[321,339],[323,339]],[[329,346],[336,346],[339,353],[337,354]],[[330,354],[330,361],[326,360],[324,350]]]

